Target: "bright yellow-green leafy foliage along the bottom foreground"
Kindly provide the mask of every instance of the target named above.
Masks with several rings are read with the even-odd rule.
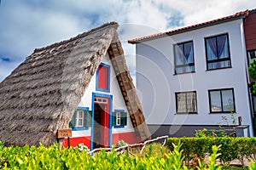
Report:
[[[187,167],[183,164],[182,144],[173,144],[173,150],[165,157],[152,156],[152,148],[144,156],[130,156],[116,153],[113,150],[102,150],[90,156],[86,151],[72,148],[60,149],[58,144],[45,148],[37,147],[4,147],[0,142],[1,169],[221,169],[216,162],[220,155],[219,148],[212,146],[209,163],[198,161],[197,167]],[[252,168],[255,164],[252,163]]]

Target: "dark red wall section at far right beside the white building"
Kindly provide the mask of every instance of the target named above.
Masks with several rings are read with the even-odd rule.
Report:
[[[256,49],[256,13],[249,14],[244,19],[243,26],[247,51]]]

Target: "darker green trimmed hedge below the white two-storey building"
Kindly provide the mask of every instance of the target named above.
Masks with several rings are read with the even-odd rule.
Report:
[[[172,144],[182,143],[181,150],[186,164],[196,156],[205,157],[212,153],[212,145],[221,145],[220,162],[229,163],[235,159],[245,167],[245,161],[256,161],[256,138],[169,138],[166,145],[173,150]]]

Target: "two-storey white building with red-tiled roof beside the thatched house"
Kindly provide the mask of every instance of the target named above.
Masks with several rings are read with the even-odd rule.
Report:
[[[128,42],[136,44],[137,90],[153,136],[234,126],[231,111],[253,136],[247,54],[255,57],[255,9]]]

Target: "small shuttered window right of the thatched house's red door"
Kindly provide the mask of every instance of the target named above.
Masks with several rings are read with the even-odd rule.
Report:
[[[127,125],[127,113],[125,111],[114,111],[112,117],[113,127],[125,127]]]

